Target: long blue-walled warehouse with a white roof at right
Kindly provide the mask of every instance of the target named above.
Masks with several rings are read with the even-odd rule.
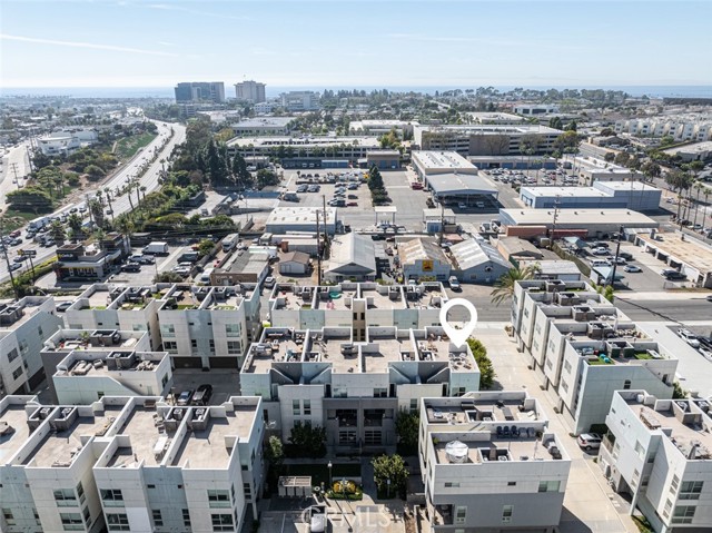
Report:
[[[652,211],[662,191],[640,181],[594,181],[592,187],[522,187],[520,199],[535,209],[616,208]]]

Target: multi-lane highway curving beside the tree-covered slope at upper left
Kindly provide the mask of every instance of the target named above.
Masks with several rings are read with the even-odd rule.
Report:
[[[86,197],[88,196],[89,198],[93,197],[93,193],[97,189],[109,189],[112,191],[112,198],[116,198],[111,201],[111,207],[113,208],[113,216],[118,216],[122,213],[128,211],[129,209],[131,209],[131,205],[129,204],[128,197],[126,194],[117,197],[116,196],[116,190],[117,188],[121,188],[123,187],[130,179],[132,179],[134,177],[138,176],[139,174],[139,169],[142,165],[146,165],[147,161],[150,160],[151,155],[154,154],[155,150],[158,149],[158,147],[161,145],[161,142],[167,139],[168,137],[170,137],[170,130],[172,128],[174,130],[174,137],[170,139],[170,141],[166,145],[166,147],[160,151],[160,154],[158,155],[158,157],[156,158],[156,161],[154,164],[150,165],[150,167],[148,168],[148,170],[144,174],[144,176],[140,179],[140,185],[146,187],[146,194],[155,190],[158,188],[159,184],[158,184],[158,178],[160,176],[160,170],[161,170],[161,159],[167,160],[170,157],[170,154],[174,149],[174,147],[176,147],[177,145],[180,145],[185,141],[186,139],[186,127],[179,124],[169,124],[169,122],[159,122],[159,121],[155,121],[156,125],[158,126],[158,137],[156,137],[156,139],[154,139],[148,146],[146,146],[142,150],[140,150],[136,156],[134,156],[134,158],[131,158],[131,160],[129,160],[126,165],[123,165],[109,180],[105,181],[103,184],[99,184],[96,188],[93,189],[87,189],[83,193],[86,194]],[[16,156],[19,157],[19,156]],[[4,165],[3,165],[4,167]],[[6,175],[7,175],[7,169],[6,169]],[[20,175],[19,169],[18,169],[18,175]],[[6,180],[3,179],[3,182]],[[10,179],[11,182],[11,179]],[[12,184],[14,185],[14,184]],[[10,189],[12,190],[12,189]],[[134,201],[136,201],[136,191],[134,190],[132,193],[132,199]],[[141,194],[142,195],[142,194]],[[79,208],[80,206],[82,206],[83,204],[86,204],[86,197],[83,199],[78,199],[77,201],[75,201],[73,204],[68,204],[68,205],[63,205],[61,206],[61,208],[57,209],[55,211],[55,215],[59,215],[61,213],[67,213],[69,209],[77,207]],[[4,198],[3,198],[4,201]],[[108,208],[108,207],[107,207]],[[52,214],[47,214],[47,216],[51,216]],[[22,233],[22,238],[24,238],[24,231]],[[23,241],[22,244],[20,244],[19,246],[16,247],[9,247],[8,249],[8,258],[10,261],[12,261],[12,259],[14,257],[17,257],[17,251],[18,249],[23,249],[23,250],[36,250],[37,256],[32,258],[32,263],[34,265],[39,265],[41,263],[43,263],[44,260],[51,258],[52,256],[55,256],[57,254],[57,248],[55,246],[49,247],[49,248],[41,248],[39,247],[36,243],[31,243],[31,241]],[[18,269],[13,273],[13,275],[19,275],[22,274],[23,272],[30,269],[30,261],[24,261],[22,264],[22,268]],[[7,280],[10,279],[10,274],[8,272],[8,265],[7,261],[4,260],[4,257],[0,257],[0,283],[4,283]]]

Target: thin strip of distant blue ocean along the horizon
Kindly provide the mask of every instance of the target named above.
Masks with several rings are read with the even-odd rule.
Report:
[[[712,98],[712,86],[493,86],[501,91],[508,91],[515,87],[526,89],[604,89],[622,90],[633,97],[646,95],[649,97],[682,97],[682,98]],[[226,85],[227,97],[231,96],[230,86]],[[290,90],[365,90],[370,92],[374,89],[388,89],[390,91],[415,91],[433,95],[435,91],[447,91],[454,89],[476,89],[477,86],[423,86],[423,87],[398,87],[398,86],[364,86],[364,87],[277,87],[267,86],[267,96],[276,97],[280,92]],[[26,88],[0,88],[0,97],[12,96],[69,96],[73,98],[174,98],[172,87],[26,87]]]

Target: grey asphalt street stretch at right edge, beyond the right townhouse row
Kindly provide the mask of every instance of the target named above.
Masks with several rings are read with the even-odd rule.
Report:
[[[712,318],[712,302],[704,296],[695,299],[674,300],[625,300],[625,296],[616,297],[615,305],[632,320],[661,322],[672,320],[685,323],[688,320],[704,320]]]

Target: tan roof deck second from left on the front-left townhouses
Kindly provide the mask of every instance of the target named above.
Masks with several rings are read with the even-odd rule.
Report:
[[[49,433],[37,445],[33,453],[27,457],[24,464],[32,466],[69,467],[75,457],[83,450],[82,440],[92,436],[103,436],[111,427],[122,406],[106,406],[103,414],[95,416],[77,416],[67,430]],[[72,407],[61,407],[60,413],[69,412]],[[61,415],[60,415],[61,416]],[[50,425],[58,422],[50,420]]]

